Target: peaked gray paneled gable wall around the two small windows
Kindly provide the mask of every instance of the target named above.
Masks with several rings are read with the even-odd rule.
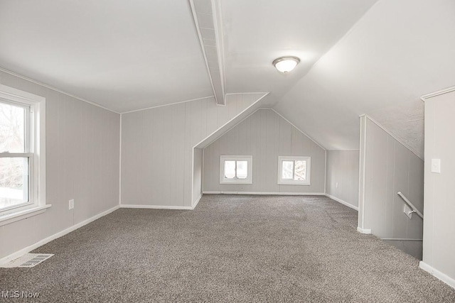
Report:
[[[220,155],[252,155],[253,184],[220,184]],[[278,156],[311,157],[311,185],[278,185]],[[271,109],[259,109],[204,149],[204,192],[324,192],[326,153]]]

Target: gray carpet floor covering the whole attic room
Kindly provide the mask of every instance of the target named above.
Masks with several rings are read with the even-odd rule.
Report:
[[[119,209],[0,269],[4,302],[455,302],[418,260],[355,231],[326,197],[204,195],[194,211]],[[0,299],[1,301],[1,299]]]

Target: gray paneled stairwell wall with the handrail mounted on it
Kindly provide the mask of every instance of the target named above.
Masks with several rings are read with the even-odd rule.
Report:
[[[368,116],[361,119],[359,227],[380,238],[422,239],[422,219],[405,216],[397,192],[423,211],[423,160]]]

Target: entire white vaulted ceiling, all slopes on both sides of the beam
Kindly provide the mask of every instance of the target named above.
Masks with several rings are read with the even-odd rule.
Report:
[[[192,1],[199,14],[189,0],[0,0],[0,67],[126,112],[213,96],[212,43],[226,93],[269,92],[325,148],[357,149],[368,114],[423,155],[419,97],[454,85],[453,0]],[[287,75],[282,55],[301,58]]]

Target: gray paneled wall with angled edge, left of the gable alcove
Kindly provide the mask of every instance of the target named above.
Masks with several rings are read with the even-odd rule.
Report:
[[[264,94],[228,95],[122,114],[122,204],[193,203],[193,147]]]

